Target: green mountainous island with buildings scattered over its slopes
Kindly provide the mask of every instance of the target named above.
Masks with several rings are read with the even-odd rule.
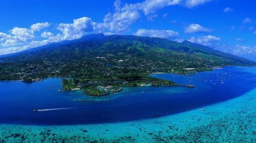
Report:
[[[152,73],[193,74],[255,62],[199,44],[156,37],[93,34],[0,57],[0,80],[40,81],[61,77],[62,91],[92,96],[124,86],[186,86],[150,77]]]

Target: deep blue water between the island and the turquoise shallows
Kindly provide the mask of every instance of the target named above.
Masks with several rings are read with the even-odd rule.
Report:
[[[0,124],[75,125],[156,118],[233,99],[256,87],[256,67],[223,67],[192,76],[151,76],[196,88],[143,86],[91,97],[81,91],[58,92],[61,78],[32,84],[1,81]],[[34,108],[42,111],[34,112]]]

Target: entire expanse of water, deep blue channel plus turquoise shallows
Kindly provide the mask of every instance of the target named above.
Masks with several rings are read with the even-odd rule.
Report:
[[[14,86],[12,90],[8,90],[7,86],[4,89],[0,88],[1,93],[9,92],[9,96],[4,95],[3,100],[0,101],[1,137],[5,141],[55,141],[59,138],[64,138],[65,141],[185,142],[186,140],[239,141],[239,139],[250,141],[254,139],[253,134],[256,133],[255,71],[255,68],[251,67],[225,67],[223,70],[197,73],[194,76],[186,77],[175,74],[154,74],[152,76],[170,79],[178,83],[188,84],[189,82],[189,84],[196,85],[196,88],[125,89],[122,93],[100,99],[84,96],[81,92],[57,92],[56,89],[60,88],[58,84],[60,81],[56,78],[28,85],[20,82],[4,82]],[[55,85],[52,85],[53,81],[56,82]],[[51,84],[47,82],[51,82]],[[26,95],[16,95],[15,93],[24,89],[20,84],[37,92],[29,95],[30,91],[26,90],[24,91],[27,93]],[[39,86],[36,86],[37,84]],[[52,91],[56,95],[52,95],[48,91]],[[16,98],[13,99],[13,97]],[[29,104],[26,101],[29,101]],[[19,106],[13,107],[10,104]],[[32,111],[35,106],[38,108],[81,108],[35,114]],[[96,110],[90,110],[95,107]],[[200,111],[200,108],[204,108],[205,111]],[[23,110],[21,112],[26,116],[18,112],[20,110]],[[82,111],[86,114],[82,114]],[[89,111],[93,111],[93,113]],[[75,120],[71,117],[68,118],[72,112],[74,114],[71,115],[75,115]],[[31,118],[30,115],[34,117]],[[51,116],[55,118],[49,118]],[[81,119],[77,119],[79,116]],[[95,119],[96,122],[90,121],[91,119]],[[137,121],[132,121],[135,119]],[[67,123],[65,121],[71,122],[71,124],[93,124],[54,125],[64,125]],[[9,124],[6,125],[6,123]],[[13,125],[24,123],[48,124],[48,126]],[[241,134],[246,134],[246,136]]]

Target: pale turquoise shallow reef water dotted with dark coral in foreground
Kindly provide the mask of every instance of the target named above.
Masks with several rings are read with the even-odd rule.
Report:
[[[197,140],[203,142],[218,141],[222,140],[221,138],[225,139],[225,142],[228,142],[230,138],[239,140],[241,137],[243,141],[250,141],[252,138],[255,138],[253,131],[254,125],[256,125],[256,119],[254,116],[248,117],[247,115],[251,115],[254,112],[252,109],[256,107],[256,100],[251,100],[252,97],[255,97],[255,93],[256,89],[253,89],[235,99],[205,106],[205,111],[200,111],[197,108],[178,114],[138,121],[91,125],[46,126],[0,124],[0,141],[1,139],[10,142],[28,140],[60,141],[59,138],[63,137],[65,137],[64,141],[66,142],[95,140],[106,142],[184,142]],[[240,114],[244,110],[246,110],[245,113]],[[250,125],[240,122],[241,119],[250,120]],[[247,130],[243,130],[244,127],[247,127]],[[237,130],[239,133],[233,130]],[[243,136],[244,131],[246,131],[248,136]],[[11,134],[14,134],[14,136],[12,137]],[[34,134],[37,134],[37,136],[34,136]],[[228,134],[229,136],[227,138],[226,135]],[[25,138],[22,139],[22,136]]]

